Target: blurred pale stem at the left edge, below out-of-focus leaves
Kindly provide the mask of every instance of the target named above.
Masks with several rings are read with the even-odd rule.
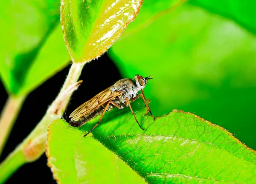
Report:
[[[10,95],[6,101],[0,115],[0,156],[25,98],[26,95],[17,97]]]

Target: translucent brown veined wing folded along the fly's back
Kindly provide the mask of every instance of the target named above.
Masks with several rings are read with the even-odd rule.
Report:
[[[90,113],[91,111],[95,110],[99,106],[103,105],[104,103],[108,102],[109,100],[122,93],[122,91],[111,91],[110,89],[112,87],[113,86],[103,90],[102,92],[98,93],[96,96],[76,108],[76,110],[74,110],[69,116],[70,118],[72,118],[71,121],[75,121],[81,116]]]

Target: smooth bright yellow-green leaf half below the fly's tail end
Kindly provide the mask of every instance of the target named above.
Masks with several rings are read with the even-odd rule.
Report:
[[[70,128],[61,119],[49,125],[47,157],[54,178],[61,184],[145,184],[115,154],[92,137],[84,138],[81,131]]]

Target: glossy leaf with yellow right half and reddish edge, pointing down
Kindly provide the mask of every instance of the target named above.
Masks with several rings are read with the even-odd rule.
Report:
[[[136,17],[142,0],[62,0],[61,23],[73,62],[100,57]]]

